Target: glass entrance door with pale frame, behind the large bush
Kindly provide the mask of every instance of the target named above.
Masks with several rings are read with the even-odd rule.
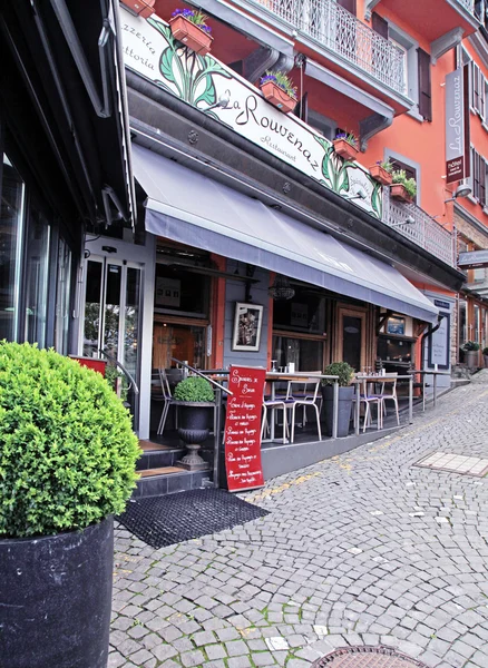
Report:
[[[86,264],[82,355],[117,360],[139,385],[140,266],[111,257],[91,256]],[[134,392],[127,401],[138,421]]]

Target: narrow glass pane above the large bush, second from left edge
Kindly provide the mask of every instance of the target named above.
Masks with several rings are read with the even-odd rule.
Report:
[[[36,204],[30,207],[26,263],[26,341],[46,346],[50,227]]]

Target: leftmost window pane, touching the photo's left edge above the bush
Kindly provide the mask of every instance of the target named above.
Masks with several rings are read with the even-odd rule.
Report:
[[[0,198],[0,340],[18,337],[21,234],[25,185],[9,158],[3,156]]]

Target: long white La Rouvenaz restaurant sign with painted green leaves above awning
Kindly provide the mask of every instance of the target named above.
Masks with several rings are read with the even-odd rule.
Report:
[[[176,41],[155,14],[123,11],[121,19],[126,67],[381,219],[381,185],[358,163],[339,157],[329,139],[276,109],[213,56]]]

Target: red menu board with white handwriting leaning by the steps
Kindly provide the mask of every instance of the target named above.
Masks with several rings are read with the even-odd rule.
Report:
[[[225,418],[225,470],[231,492],[263,487],[261,413],[266,370],[231,366]]]

